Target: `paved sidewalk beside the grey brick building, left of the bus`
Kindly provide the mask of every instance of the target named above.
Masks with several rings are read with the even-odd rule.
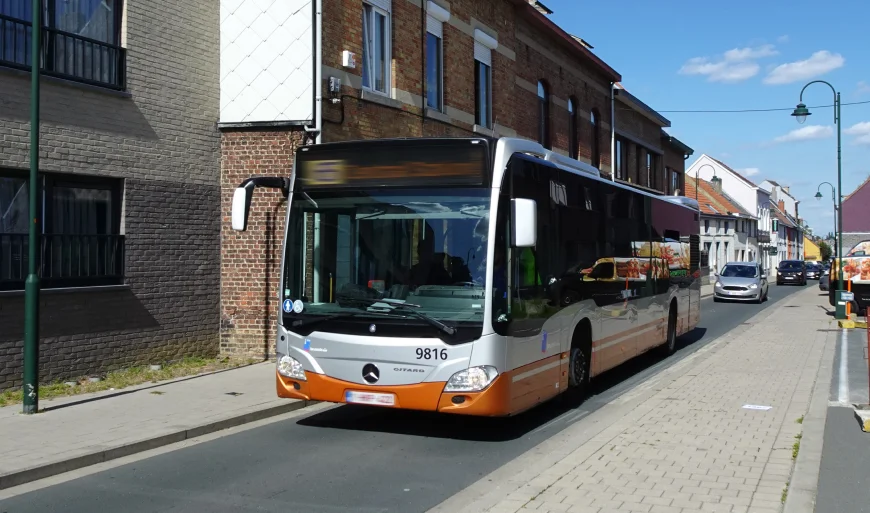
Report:
[[[304,407],[261,363],[114,392],[0,408],[0,489]]]

